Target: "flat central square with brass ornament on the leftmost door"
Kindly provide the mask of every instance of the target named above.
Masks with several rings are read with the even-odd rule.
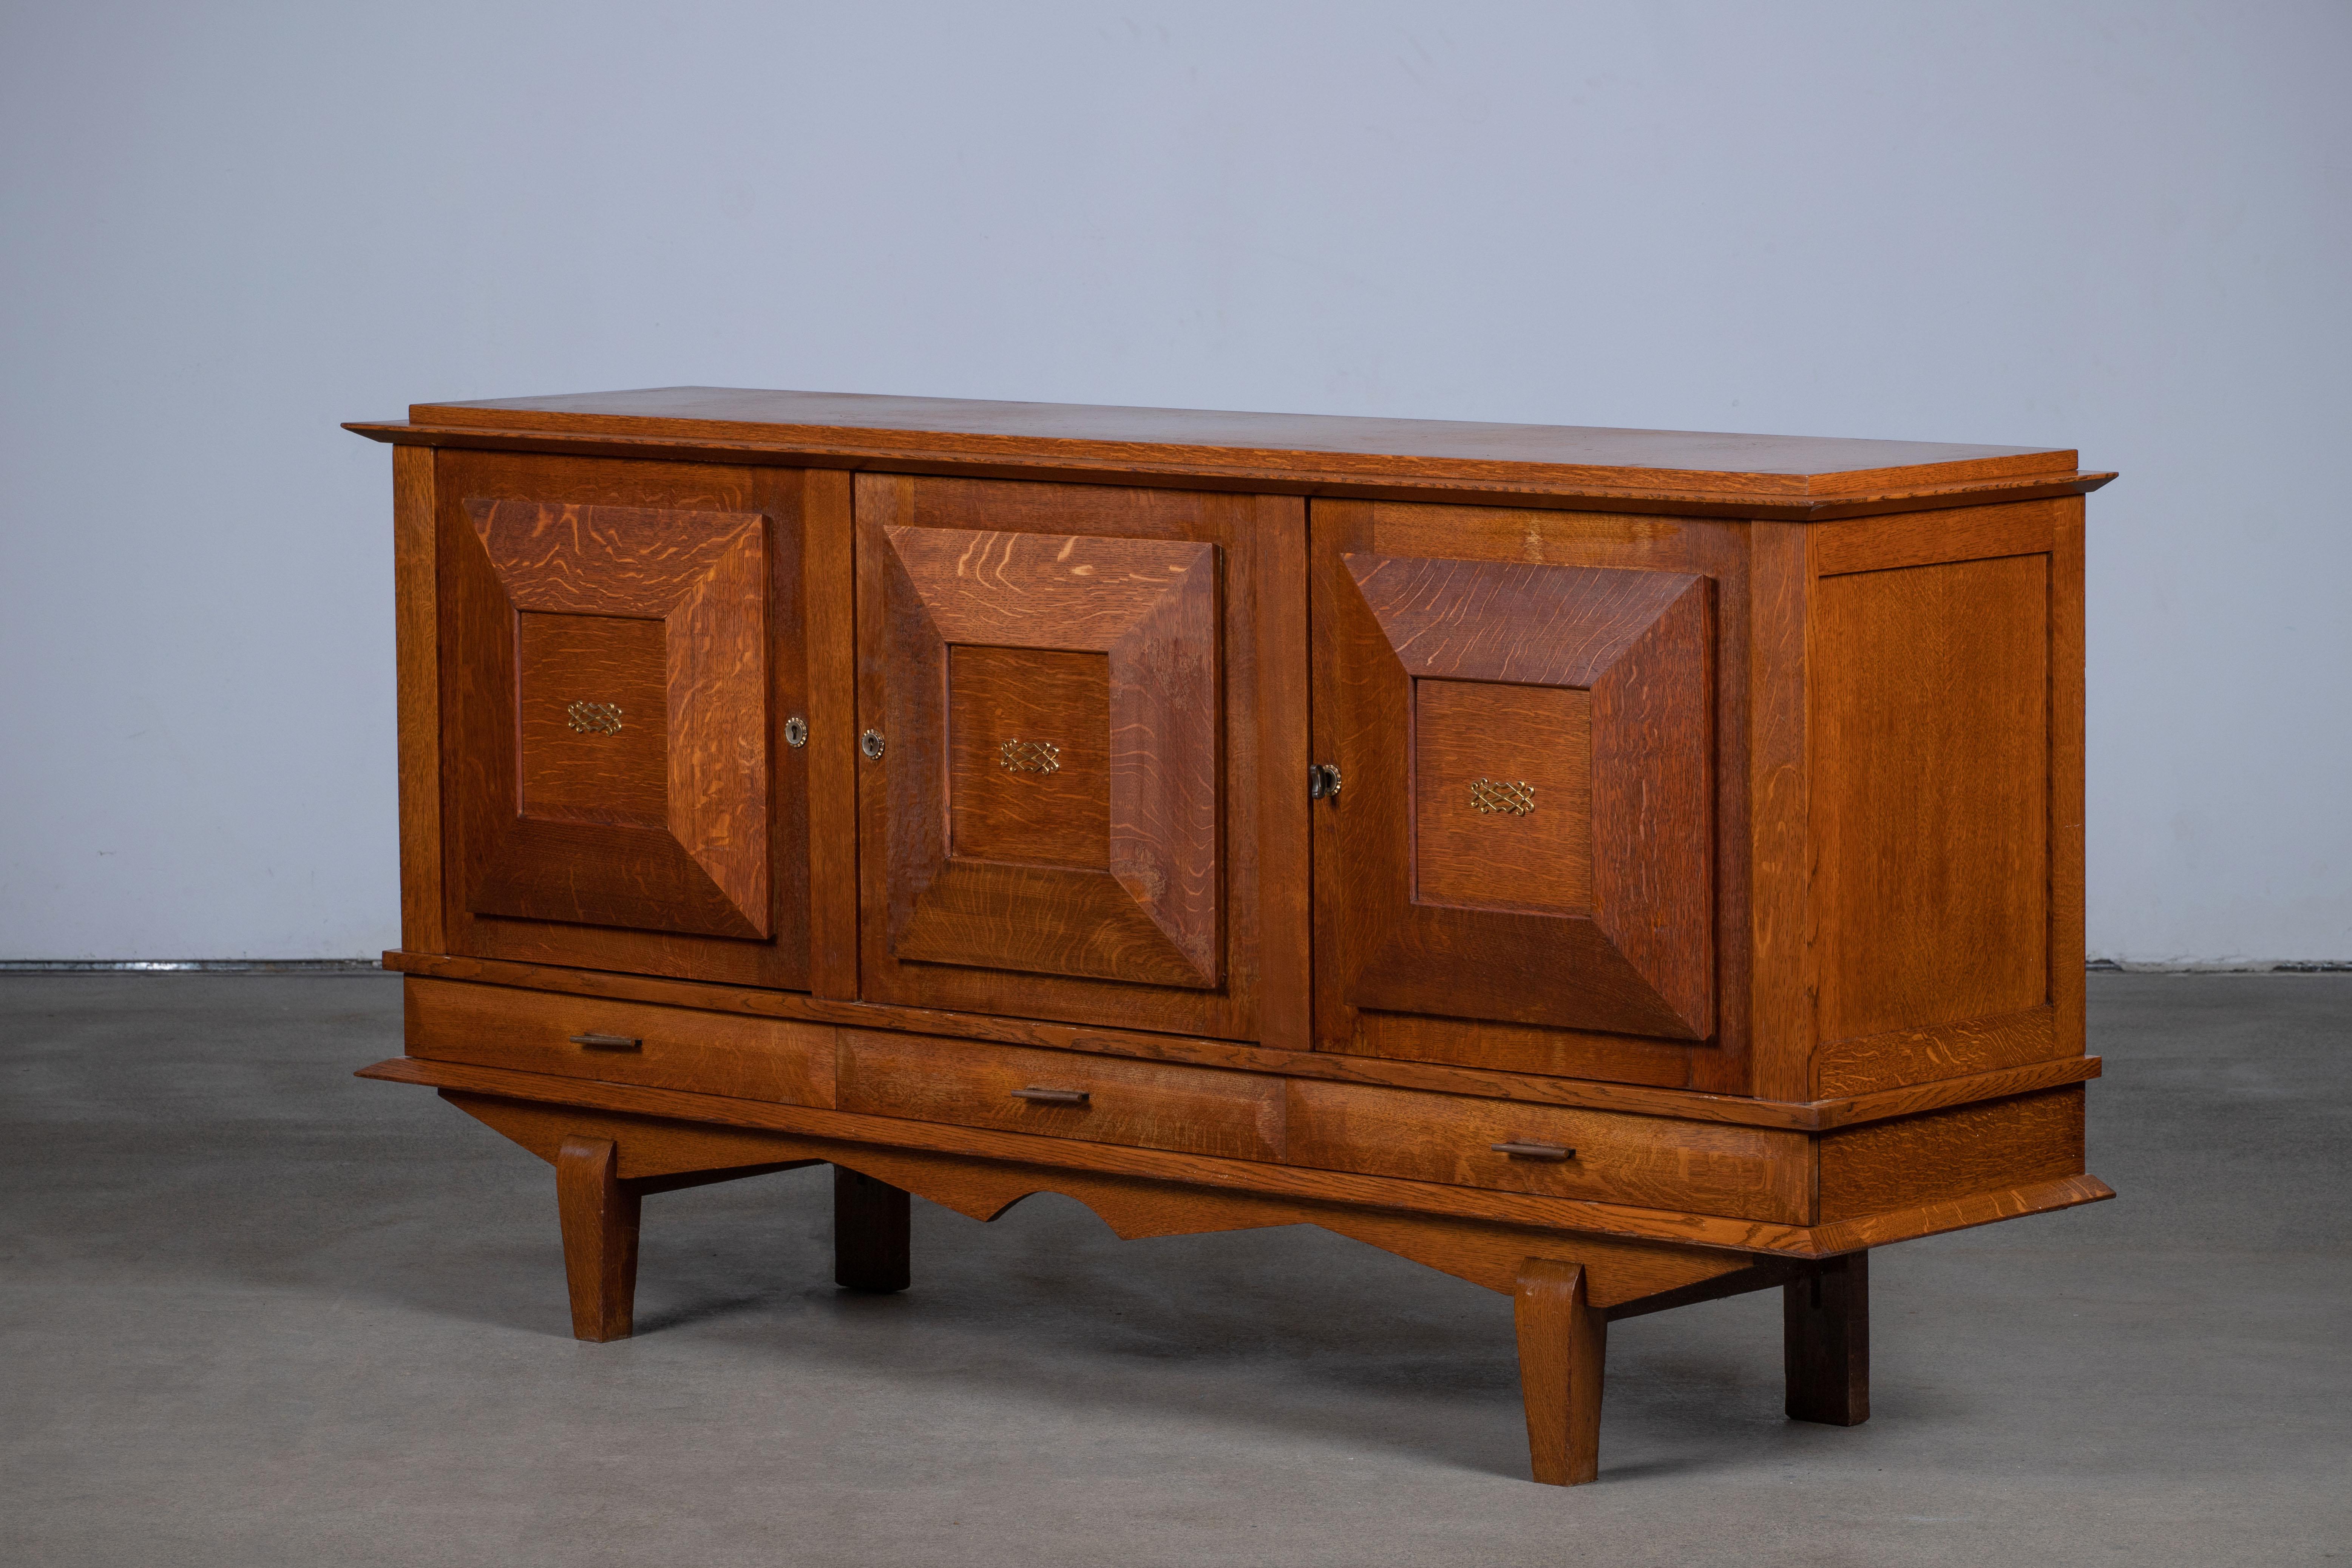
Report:
[[[670,820],[670,715],[661,621],[517,616],[522,816]]]

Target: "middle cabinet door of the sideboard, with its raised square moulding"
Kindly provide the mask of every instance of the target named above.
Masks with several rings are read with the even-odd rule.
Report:
[[[1249,1039],[1272,985],[1303,1037],[1301,503],[861,475],[856,508],[863,994]]]

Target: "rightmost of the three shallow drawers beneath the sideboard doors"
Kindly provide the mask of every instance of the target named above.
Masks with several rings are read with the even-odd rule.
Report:
[[[1573,1154],[1503,1154],[1498,1143]],[[1811,1222],[1804,1133],[1752,1126],[1291,1079],[1289,1159],[1449,1187]]]

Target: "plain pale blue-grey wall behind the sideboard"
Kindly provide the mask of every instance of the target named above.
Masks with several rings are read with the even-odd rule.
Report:
[[[2352,7],[12,5],[0,957],[395,940],[409,400],[2077,444],[2091,950],[2352,957]]]

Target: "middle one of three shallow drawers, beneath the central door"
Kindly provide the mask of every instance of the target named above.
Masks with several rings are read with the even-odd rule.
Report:
[[[1084,1095],[1082,1103],[1021,1093]],[[1282,1079],[842,1030],[840,1110],[1143,1150],[1282,1159]]]

